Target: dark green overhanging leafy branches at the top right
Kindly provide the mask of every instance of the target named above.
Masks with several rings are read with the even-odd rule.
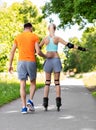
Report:
[[[96,20],[95,0],[50,0],[42,7],[44,17],[57,14],[60,18],[60,27],[77,23],[84,27],[86,20],[93,23]],[[51,17],[51,16],[50,16]]]

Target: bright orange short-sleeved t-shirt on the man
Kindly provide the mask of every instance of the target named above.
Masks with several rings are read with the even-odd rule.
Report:
[[[35,58],[35,43],[39,42],[39,38],[36,34],[31,32],[23,32],[19,34],[14,43],[19,50],[19,61],[36,61]]]

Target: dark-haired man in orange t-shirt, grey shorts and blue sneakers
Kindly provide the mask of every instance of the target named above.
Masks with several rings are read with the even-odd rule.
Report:
[[[39,38],[32,32],[32,24],[24,24],[24,32],[19,34],[15,40],[10,53],[9,72],[13,70],[12,62],[16,48],[19,50],[19,60],[17,65],[18,78],[20,79],[20,95],[22,100],[22,113],[27,113],[27,109],[34,110],[33,97],[36,89],[36,58],[38,55],[46,58],[39,48]],[[30,99],[26,104],[26,80],[30,78]]]

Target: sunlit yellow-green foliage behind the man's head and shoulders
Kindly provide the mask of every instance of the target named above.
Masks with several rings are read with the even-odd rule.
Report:
[[[22,3],[15,2],[7,7],[6,4],[0,8],[0,71],[7,70],[10,49],[14,38],[23,31],[23,24],[31,22],[40,40],[46,35],[46,22],[42,14],[29,0]],[[2,46],[2,48],[1,48]],[[38,61],[39,62],[39,61]],[[17,64],[15,55],[14,66]],[[15,68],[16,69],[16,68]]]

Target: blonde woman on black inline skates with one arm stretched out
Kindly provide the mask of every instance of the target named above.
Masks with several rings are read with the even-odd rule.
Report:
[[[63,45],[68,46],[69,48],[76,48],[82,51],[85,51],[85,48],[78,47],[71,43],[64,41],[62,38],[55,36],[56,25],[50,24],[48,27],[49,35],[45,37],[41,43],[40,47],[46,45],[47,51],[47,60],[44,63],[44,71],[46,75],[45,87],[44,87],[44,98],[43,98],[43,106],[45,110],[48,107],[48,95],[49,88],[51,83],[51,74],[54,72],[54,84],[56,86],[56,106],[59,111],[61,106],[61,88],[60,88],[60,72],[61,72],[61,61],[58,54],[58,43],[62,43]]]

